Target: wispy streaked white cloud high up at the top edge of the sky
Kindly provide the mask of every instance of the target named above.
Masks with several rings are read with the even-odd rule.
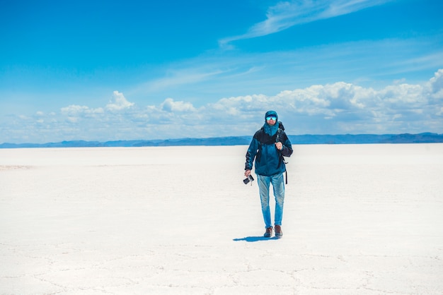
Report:
[[[364,8],[385,4],[389,1],[392,0],[280,1],[275,6],[267,9],[266,20],[256,23],[243,35],[219,40],[219,44],[221,47],[229,47],[229,43],[236,40],[270,35],[294,25],[342,16]]]

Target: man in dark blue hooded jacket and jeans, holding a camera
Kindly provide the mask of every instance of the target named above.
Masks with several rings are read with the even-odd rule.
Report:
[[[251,175],[255,158],[255,174],[257,174],[260,191],[263,219],[265,221],[264,236],[272,236],[271,212],[269,207],[269,188],[272,184],[275,197],[275,236],[280,238],[282,232],[282,217],[284,203],[283,172],[286,171],[283,156],[292,155],[292,144],[284,133],[284,127],[278,121],[277,112],[265,114],[265,124],[255,132],[248,152],[246,152],[245,176]]]

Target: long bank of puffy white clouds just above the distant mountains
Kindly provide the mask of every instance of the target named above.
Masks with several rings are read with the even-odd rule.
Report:
[[[443,69],[423,84],[394,83],[379,90],[337,82],[275,95],[225,97],[195,107],[166,98],[138,105],[114,91],[104,107],[69,105],[50,113],[8,116],[0,142],[134,140],[247,136],[275,109],[289,134],[442,133]]]

